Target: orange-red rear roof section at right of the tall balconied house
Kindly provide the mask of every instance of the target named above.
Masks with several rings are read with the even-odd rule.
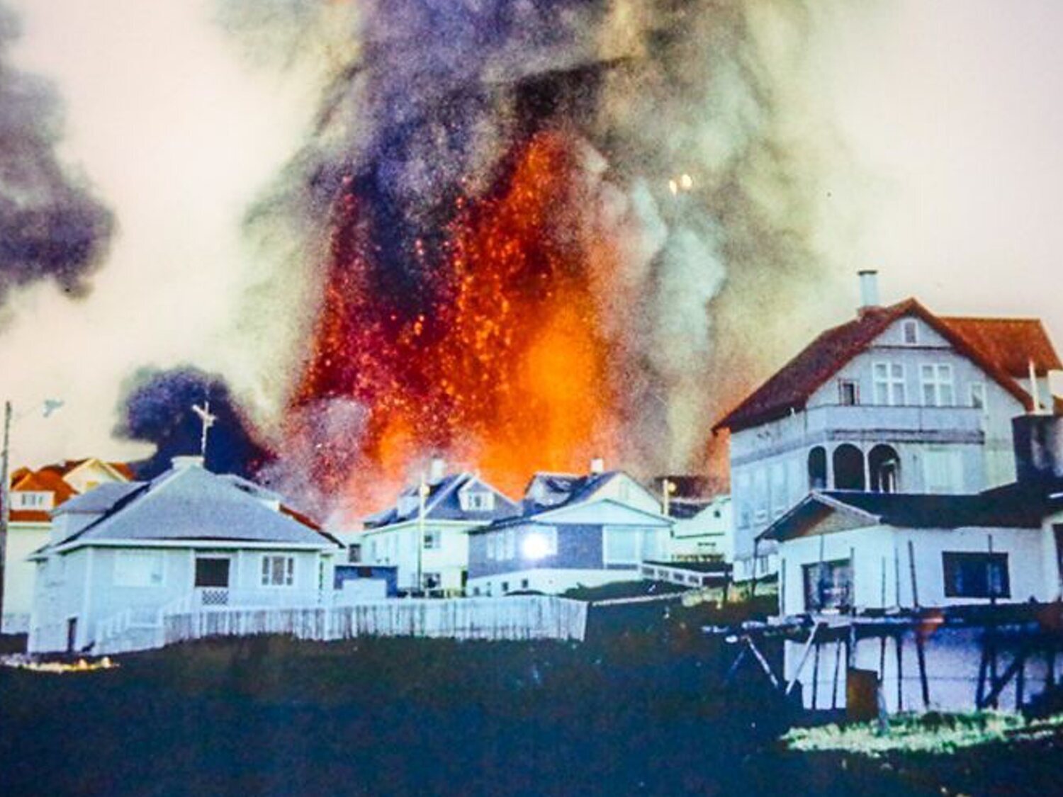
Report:
[[[943,318],[942,322],[1015,378],[1029,378],[1031,360],[1037,374],[1063,370],[1048,333],[1037,319]]]

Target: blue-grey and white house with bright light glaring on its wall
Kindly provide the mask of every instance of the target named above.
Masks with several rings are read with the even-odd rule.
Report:
[[[470,595],[549,594],[640,578],[669,552],[672,520],[625,473],[539,473],[520,516],[469,532]]]

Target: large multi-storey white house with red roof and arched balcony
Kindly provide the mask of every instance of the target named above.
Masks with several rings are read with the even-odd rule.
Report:
[[[735,575],[774,573],[758,536],[810,490],[977,493],[1015,479],[1011,420],[1053,411],[1063,366],[1033,319],[879,306],[824,332],[716,425],[730,433]],[[1046,405],[1048,405],[1046,407]]]

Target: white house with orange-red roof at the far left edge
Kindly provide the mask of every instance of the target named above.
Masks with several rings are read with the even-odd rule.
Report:
[[[129,465],[96,457],[66,460],[36,471],[20,468],[12,474],[4,556],[4,633],[30,630],[34,567],[27,557],[48,542],[51,511],[95,487],[125,482],[132,476]]]

